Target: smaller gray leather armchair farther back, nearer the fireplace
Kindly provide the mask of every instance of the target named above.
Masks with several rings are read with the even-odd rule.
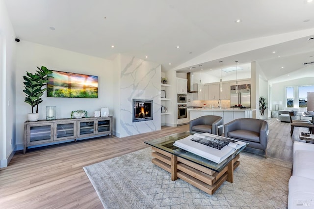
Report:
[[[205,115],[190,121],[192,132],[222,135],[222,129],[222,117],[217,115]]]

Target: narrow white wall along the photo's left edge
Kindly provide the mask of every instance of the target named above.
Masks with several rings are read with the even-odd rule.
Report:
[[[15,148],[15,45],[6,5],[0,0],[0,167],[7,166]]]

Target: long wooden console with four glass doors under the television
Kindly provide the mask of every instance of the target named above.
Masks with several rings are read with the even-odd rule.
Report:
[[[26,153],[26,148],[29,146],[76,141],[109,134],[112,137],[112,116],[26,121],[24,123],[23,153]]]

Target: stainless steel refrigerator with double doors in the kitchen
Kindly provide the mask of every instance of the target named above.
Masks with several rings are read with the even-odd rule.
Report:
[[[245,108],[251,108],[251,84],[237,85],[236,87],[230,86],[230,106],[238,106],[239,104]]]

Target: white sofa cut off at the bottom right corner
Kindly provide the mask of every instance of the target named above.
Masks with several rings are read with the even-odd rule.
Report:
[[[314,144],[293,143],[288,209],[314,209]]]

